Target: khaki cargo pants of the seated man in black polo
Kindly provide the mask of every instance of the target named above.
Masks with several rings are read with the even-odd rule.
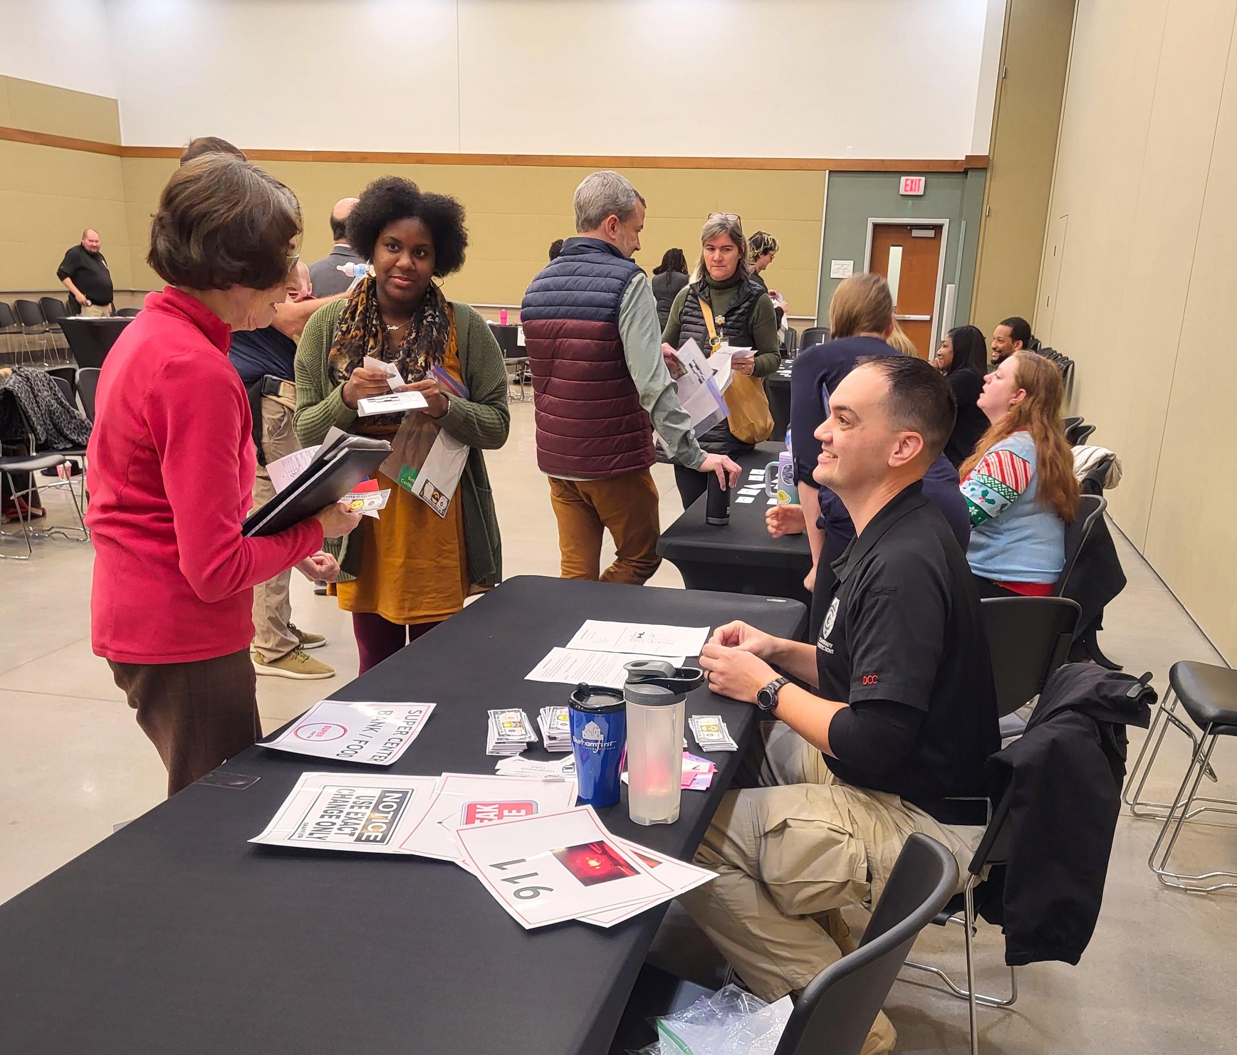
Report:
[[[695,856],[717,878],[680,900],[752,992],[772,1002],[840,959],[834,925],[818,916],[875,904],[912,832],[949,847],[965,876],[983,829],[941,825],[897,795],[841,783],[782,722],[766,737],[761,780],[777,785],[725,795]]]

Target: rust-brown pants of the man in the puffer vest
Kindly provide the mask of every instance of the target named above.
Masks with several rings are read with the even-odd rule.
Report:
[[[642,585],[662,563],[657,539],[657,485],[647,469],[606,480],[549,477],[549,498],[558,519],[564,579]],[[601,571],[601,534],[615,540],[615,563]]]

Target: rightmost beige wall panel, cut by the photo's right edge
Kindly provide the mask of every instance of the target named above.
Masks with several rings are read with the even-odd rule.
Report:
[[[1237,659],[1237,489],[1232,423],[1237,357],[1217,335],[1237,330],[1237,200],[1225,176],[1237,166],[1237,42],[1212,181],[1202,205],[1190,292],[1147,529],[1147,557],[1230,660]]]

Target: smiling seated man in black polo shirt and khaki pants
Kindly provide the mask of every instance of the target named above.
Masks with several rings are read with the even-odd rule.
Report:
[[[816,430],[818,484],[857,537],[821,589],[813,644],[742,622],[700,665],[715,693],[757,704],[769,726],[763,784],[730,792],[696,853],[717,878],[683,898],[755,993],[802,989],[837,960],[836,909],[875,903],[922,831],[965,866],[983,832],[983,762],[999,747],[980,599],[922,477],[949,439],[954,398],[922,360],[863,360]],[[777,669],[774,669],[777,668]],[[788,684],[779,672],[809,685]],[[888,1051],[883,1013],[863,1048]]]

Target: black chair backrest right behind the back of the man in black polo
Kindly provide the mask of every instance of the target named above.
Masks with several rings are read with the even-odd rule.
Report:
[[[1044,688],[1070,654],[1081,607],[1065,597],[991,597],[980,602],[1001,717]]]

